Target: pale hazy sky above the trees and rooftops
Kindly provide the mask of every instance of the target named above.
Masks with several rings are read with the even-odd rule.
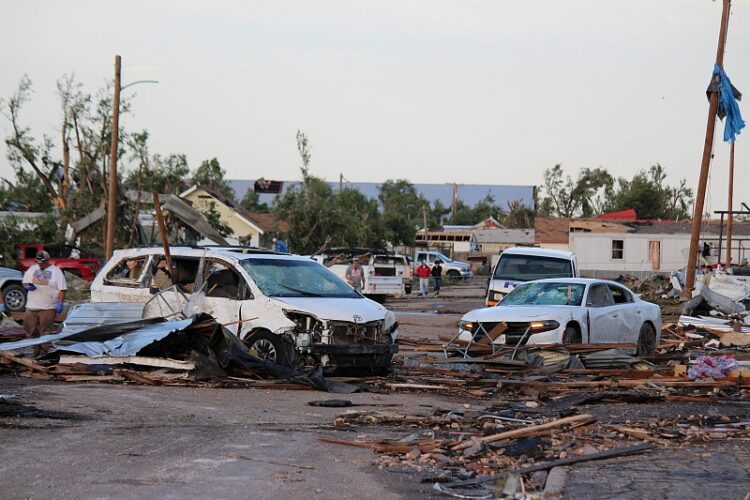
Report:
[[[724,68],[750,93],[750,3],[734,3]],[[62,75],[94,92],[119,54],[123,85],[159,82],[123,91],[121,127],[193,168],[216,157],[228,178],[298,179],[302,130],[328,180],[539,185],[557,163],[631,177],[658,162],[695,188],[721,1],[0,0],[0,12],[0,97],[31,78],[21,121],[36,136],[59,136]],[[722,131],[710,210],[726,209]],[[748,162],[746,130],[737,204],[750,204]]]

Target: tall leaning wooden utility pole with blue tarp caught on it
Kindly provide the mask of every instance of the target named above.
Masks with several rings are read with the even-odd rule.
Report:
[[[716,48],[716,64],[724,66],[724,47],[727,42],[727,30],[729,28],[729,8],[731,0],[724,0],[724,8],[721,12],[721,28],[719,29],[719,43]],[[717,83],[719,75],[713,75],[712,83]],[[685,287],[682,290],[682,298],[688,300],[692,297],[695,286],[695,262],[698,259],[698,242],[701,236],[701,224],[703,222],[703,202],[706,199],[706,185],[708,184],[708,170],[711,165],[711,150],[714,142],[714,129],[716,128],[716,112],[719,109],[719,93],[711,92],[708,103],[708,123],[706,124],[706,141],[703,143],[703,159],[701,161],[701,172],[698,179],[698,192],[695,196],[693,207],[693,226],[690,233],[690,252],[688,254],[687,274],[685,276]]]

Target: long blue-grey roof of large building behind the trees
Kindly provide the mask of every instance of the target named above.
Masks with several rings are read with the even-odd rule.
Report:
[[[258,193],[260,203],[273,203],[276,196],[283,196],[289,189],[299,186],[300,181],[268,181],[266,179],[232,179],[228,180],[235,196],[242,199],[249,188]],[[338,182],[328,183],[334,191],[338,191]],[[379,182],[347,182],[346,189],[356,189],[368,198],[377,199]],[[417,194],[434,202],[440,200],[443,206],[451,206],[453,199],[453,184],[414,184]],[[487,195],[495,199],[495,204],[506,207],[508,202],[520,201],[528,208],[534,208],[534,186],[508,186],[493,184],[459,184],[458,199],[473,207]]]

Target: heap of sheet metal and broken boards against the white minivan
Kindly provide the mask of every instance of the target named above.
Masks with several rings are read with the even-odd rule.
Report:
[[[51,346],[41,358],[23,355],[41,346]],[[3,342],[0,370],[68,382],[357,390],[324,378],[320,367],[303,373],[261,360],[205,314],[176,321],[149,318]]]

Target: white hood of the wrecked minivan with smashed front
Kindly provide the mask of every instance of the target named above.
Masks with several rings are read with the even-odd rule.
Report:
[[[368,323],[385,318],[387,309],[370,299],[326,299],[317,297],[277,297],[288,307],[284,309],[306,312],[322,320]],[[354,316],[358,316],[354,318]]]

